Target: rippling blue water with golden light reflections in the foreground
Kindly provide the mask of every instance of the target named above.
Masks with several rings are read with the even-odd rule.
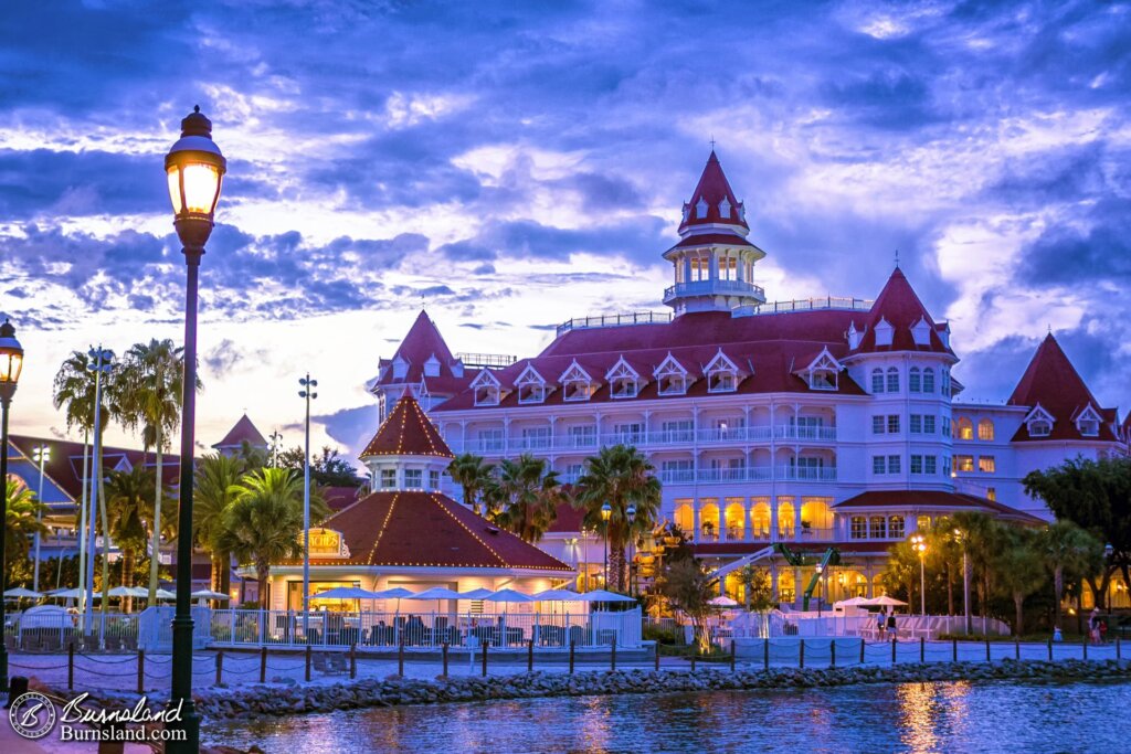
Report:
[[[1131,684],[947,682],[553,697],[208,726],[205,738],[316,752],[1122,752]]]

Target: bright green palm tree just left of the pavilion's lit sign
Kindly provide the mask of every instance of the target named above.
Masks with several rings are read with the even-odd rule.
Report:
[[[234,487],[235,500],[225,509],[221,546],[256,569],[260,607],[266,607],[270,564],[302,555],[302,477],[291,469],[259,469]],[[311,495],[311,523],[328,512]]]

